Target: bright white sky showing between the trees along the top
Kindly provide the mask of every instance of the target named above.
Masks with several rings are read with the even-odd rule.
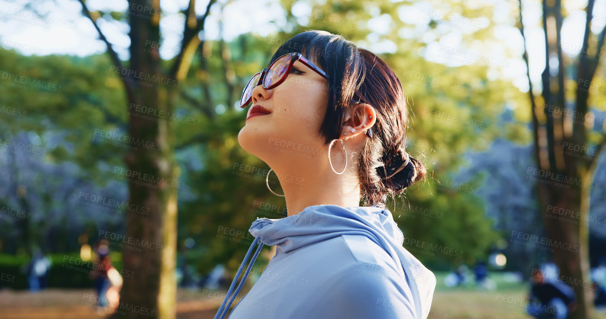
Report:
[[[252,32],[267,36],[282,28],[289,28],[285,19],[284,8],[278,0],[245,1],[236,0],[227,3],[219,0],[213,5],[211,14],[205,22],[205,31],[199,36],[205,39],[224,38],[232,41],[242,33]],[[319,2],[319,1],[316,1]],[[323,2],[323,1],[321,1]],[[487,65],[489,79],[510,79],[522,91],[528,90],[528,81],[525,77],[526,67],[521,59],[524,51],[522,37],[514,26],[517,3],[508,0],[461,0],[466,7],[494,6],[493,16],[467,19],[460,10],[451,10],[448,3],[440,7],[432,6],[431,2],[418,1],[392,1],[400,2],[396,17],[410,24],[407,27],[395,29],[396,23],[388,14],[381,15],[376,5],[367,4],[365,12],[373,18],[367,22],[370,33],[358,44],[369,48],[376,53],[396,53],[398,45],[385,38],[385,35],[396,33],[402,39],[416,39],[427,44],[419,51],[428,61],[442,63],[457,67],[473,64],[473,58],[484,58],[493,61]],[[45,17],[36,16],[36,13],[23,10],[27,3],[21,1],[0,0],[0,45],[5,48],[27,49],[20,50],[24,55],[30,54],[75,54],[87,56],[104,53],[107,49],[102,42],[93,24],[82,16],[81,5],[76,0],[56,0],[55,2],[36,2],[36,9]],[[180,50],[181,33],[184,28],[185,16],[179,8],[187,6],[188,0],[161,1],[161,58],[171,59]],[[204,13],[207,1],[196,2],[196,14]],[[585,12],[587,0],[568,0],[563,2],[564,9],[569,12],[564,19],[562,27],[562,51],[568,56],[577,56],[581,50],[582,34],[584,31]],[[90,10],[114,10],[126,12],[126,0],[88,0]],[[221,6],[224,6],[221,10]],[[456,9],[456,7],[454,8]],[[297,22],[308,25],[313,19],[310,2],[296,1],[291,12],[298,17]],[[454,13],[453,13],[454,12]],[[596,0],[591,31],[599,33],[606,25],[606,0]],[[533,84],[539,85],[541,73],[545,67],[544,35],[541,27],[541,2],[525,0],[523,2],[526,45],[530,59],[530,77]],[[353,13],[352,13],[353,16]],[[491,18],[491,19],[488,19]],[[439,21],[435,28],[430,28],[430,21]],[[357,22],[356,22],[357,23]],[[118,52],[121,59],[128,58],[129,26],[124,22],[114,21],[108,16],[98,20],[99,28],[104,32],[112,47]],[[221,28],[219,28],[221,25]],[[464,43],[462,39],[473,36],[474,32],[482,28],[491,31],[493,39],[471,41]],[[221,30],[221,31],[220,31]],[[499,42],[495,42],[499,41]],[[456,54],[452,54],[455,52]],[[450,53],[450,56],[448,55]],[[461,56],[467,59],[462,59]],[[470,58],[471,57],[471,58]],[[507,62],[507,67],[502,66]],[[553,63],[552,63],[553,64]],[[551,65],[553,67],[553,65]]]

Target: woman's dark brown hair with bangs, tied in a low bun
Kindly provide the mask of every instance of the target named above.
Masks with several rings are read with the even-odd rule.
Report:
[[[375,108],[373,137],[366,139],[358,161],[365,206],[385,207],[388,194],[402,194],[408,186],[425,179],[425,166],[405,151],[408,102],[402,84],[382,59],[340,35],[310,30],[284,42],[270,64],[291,52],[317,62],[328,74],[328,108],[318,132],[325,145],[341,138],[341,125],[335,123],[343,122],[352,101]],[[385,179],[406,162],[398,173]]]

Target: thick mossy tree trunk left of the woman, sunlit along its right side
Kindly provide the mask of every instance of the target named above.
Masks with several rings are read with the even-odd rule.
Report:
[[[131,276],[124,276],[121,301],[114,317],[174,319],[177,191],[184,186],[178,181],[180,171],[172,149],[170,117],[178,88],[162,73],[157,48],[148,50],[150,42],[147,41],[159,43],[159,2],[133,2],[133,5],[153,8],[151,12],[156,14],[130,15],[128,74],[133,74],[131,80],[147,84],[133,84],[133,90],[128,93],[128,134],[132,149],[125,156],[127,171],[119,172],[119,178],[130,179],[129,207],[150,211],[148,215],[135,210],[127,212],[125,240],[141,243],[132,245],[141,251],[122,249],[124,271]],[[145,107],[141,109],[145,112],[137,111],[133,104]],[[151,119],[141,117],[143,115]]]

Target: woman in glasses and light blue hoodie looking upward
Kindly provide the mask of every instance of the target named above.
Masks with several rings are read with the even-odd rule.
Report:
[[[426,174],[404,150],[407,100],[395,73],[342,36],[307,31],[253,76],[241,107],[250,103],[238,142],[276,172],[284,195],[270,191],[288,215],[252,223],[256,238],[215,318],[262,245],[276,254],[231,319],[427,318],[435,276],[402,247],[385,208],[388,194]],[[370,206],[358,206],[361,196]]]

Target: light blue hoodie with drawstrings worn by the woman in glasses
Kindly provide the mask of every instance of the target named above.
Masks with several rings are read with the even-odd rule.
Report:
[[[276,245],[276,254],[229,319],[425,319],[430,312],[436,277],[404,249],[388,209],[314,205],[258,218],[248,231],[256,239],[241,269],[258,240]]]

